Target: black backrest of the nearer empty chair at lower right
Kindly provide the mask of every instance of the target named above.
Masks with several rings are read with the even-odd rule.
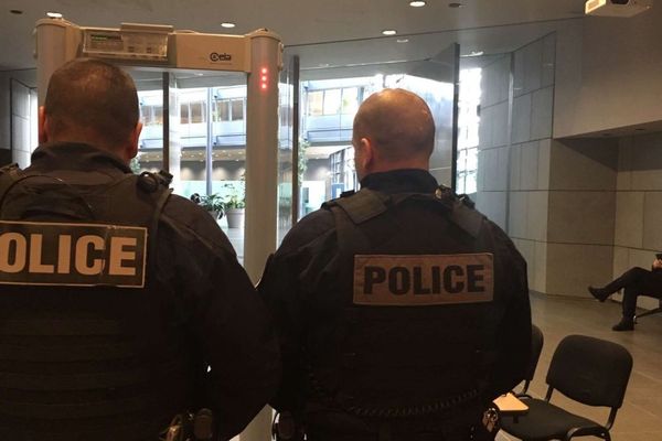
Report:
[[[623,404],[632,356],[623,346],[586,335],[568,335],[554,352],[547,384],[588,406]]]

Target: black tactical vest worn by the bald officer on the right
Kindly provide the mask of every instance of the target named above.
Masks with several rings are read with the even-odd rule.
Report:
[[[344,310],[309,342],[314,400],[375,427],[476,423],[498,297],[483,216],[441,189],[364,189],[325,208]]]

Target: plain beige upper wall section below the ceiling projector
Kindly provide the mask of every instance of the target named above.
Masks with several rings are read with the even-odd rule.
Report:
[[[557,32],[554,138],[662,120],[662,4]]]

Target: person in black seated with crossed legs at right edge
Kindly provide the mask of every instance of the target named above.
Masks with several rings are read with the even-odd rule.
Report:
[[[655,256],[650,271],[634,267],[604,288],[588,287],[591,295],[600,302],[621,289],[623,290],[623,316],[611,329],[613,331],[633,331],[637,298],[639,295],[651,295],[662,299],[662,254]]]

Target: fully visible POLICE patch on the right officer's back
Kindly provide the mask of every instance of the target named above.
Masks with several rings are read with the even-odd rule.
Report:
[[[491,254],[357,255],[354,304],[423,306],[490,302],[494,297]]]

